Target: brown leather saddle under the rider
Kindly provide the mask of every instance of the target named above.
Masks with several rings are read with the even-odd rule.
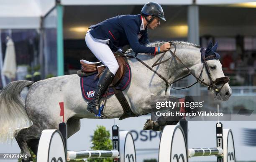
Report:
[[[118,62],[119,68],[118,71],[115,73],[115,77],[113,78],[111,86],[117,85],[119,81],[123,79],[123,77],[125,76],[125,65],[127,63],[127,58],[124,58],[120,55],[115,55],[115,58]],[[81,77],[97,73],[97,77],[100,78],[102,72],[106,68],[106,66],[102,64],[102,62],[90,62],[86,60],[80,60],[80,63],[82,65],[82,69],[77,74]],[[83,75],[83,73],[85,74]]]

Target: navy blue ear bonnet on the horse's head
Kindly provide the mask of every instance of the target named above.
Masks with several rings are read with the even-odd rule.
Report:
[[[215,56],[215,57],[211,57],[208,58],[206,60],[219,60],[220,59],[220,54],[217,53],[217,47],[218,47],[218,42],[215,43],[214,46],[212,46],[212,42],[209,43],[207,48],[201,48],[200,52],[201,52],[201,61],[203,62],[203,58],[207,58],[208,56]]]

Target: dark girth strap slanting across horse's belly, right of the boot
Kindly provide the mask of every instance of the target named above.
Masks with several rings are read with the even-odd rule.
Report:
[[[131,107],[128,104],[128,101],[126,100],[125,96],[123,95],[123,92],[120,89],[116,89],[115,87],[112,87],[115,92],[115,97],[118,99],[119,103],[121,104],[123,108],[123,115],[119,118],[119,120],[123,120],[125,118],[129,117],[135,117],[138,116],[131,111]]]

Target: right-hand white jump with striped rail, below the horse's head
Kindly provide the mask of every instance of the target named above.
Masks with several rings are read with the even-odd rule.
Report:
[[[188,158],[217,156],[217,162],[236,162],[235,147],[231,129],[223,129],[216,124],[217,147],[188,148],[187,121],[181,126],[165,126],[159,146],[159,162],[188,162]]]

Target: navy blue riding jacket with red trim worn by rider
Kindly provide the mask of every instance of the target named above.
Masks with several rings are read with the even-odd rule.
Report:
[[[91,35],[97,39],[110,39],[109,47],[113,52],[130,44],[136,53],[156,53],[155,47],[146,47],[149,43],[147,29],[141,28],[141,15],[119,15],[90,26]],[[139,38],[141,36],[141,38]]]

